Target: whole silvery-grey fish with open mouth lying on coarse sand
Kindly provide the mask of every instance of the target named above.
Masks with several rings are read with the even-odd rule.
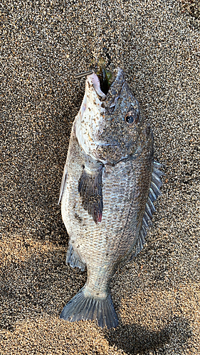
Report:
[[[93,72],[86,78],[59,202],[69,236],[66,263],[87,268],[88,275],[60,319],[95,320],[110,329],[118,325],[110,278],[119,263],[142,250],[164,173],[124,71],[118,67],[103,85],[108,77]]]

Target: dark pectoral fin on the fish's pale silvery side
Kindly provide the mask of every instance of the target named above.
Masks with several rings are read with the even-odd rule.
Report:
[[[82,197],[83,208],[93,217],[95,223],[102,219],[102,166],[95,171],[83,169],[78,182],[78,192]]]

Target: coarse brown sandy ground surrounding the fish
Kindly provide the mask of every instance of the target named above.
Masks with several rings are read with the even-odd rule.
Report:
[[[101,23],[99,1],[3,3],[0,354],[200,354],[198,2],[103,1]],[[98,29],[166,173],[147,244],[111,280],[110,331],[58,318],[86,279],[65,265],[57,203]]]

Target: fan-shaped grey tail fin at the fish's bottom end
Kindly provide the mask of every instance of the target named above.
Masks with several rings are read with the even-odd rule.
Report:
[[[93,297],[85,297],[81,290],[65,305],[60,318],[75,322],[78,320],[97,320],[100,327],[107,329],[118,325],[117,315],[110,294],[105,300],[97,300]]]

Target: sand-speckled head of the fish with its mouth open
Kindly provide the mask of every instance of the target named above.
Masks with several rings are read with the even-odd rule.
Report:
[[[76,136],[86,154],[102,163],[115,165],[138,155],[152,131],[144,126],[140,105],[117,69],[107,94],[102,92],[98,76],[88,75],[85,96],[76,122]]]

